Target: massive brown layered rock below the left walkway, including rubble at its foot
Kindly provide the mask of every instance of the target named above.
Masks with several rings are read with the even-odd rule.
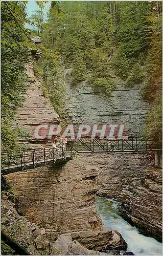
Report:
[[[91,254],[106,246],[125,250],[121,234],[106,229],[97,214],[97,176],[97,167],[79,159],[7,175],[14,201],[4,196],[2,231],[31,254]]]

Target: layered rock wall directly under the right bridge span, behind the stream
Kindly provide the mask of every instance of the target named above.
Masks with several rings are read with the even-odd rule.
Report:
[[[99,190],[97,194],[119,199],[122,189],[144,177],[143,166],[153,161],[151,154],[94,153],[82,154],[80,159],[99,168],[96,178]]]

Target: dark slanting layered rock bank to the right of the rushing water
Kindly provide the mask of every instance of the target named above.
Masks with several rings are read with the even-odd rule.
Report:
[[[133,181],[121,194],[121,215],[144,234],[161,241],[162,170],[144,170],[142,179]]]

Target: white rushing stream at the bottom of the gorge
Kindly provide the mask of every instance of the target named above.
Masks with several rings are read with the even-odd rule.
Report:
[[[117,230],[128,244],[127,251],[135,255],[162,255],[162,243],[139,233],[136,227],[125,221],[118,212],[119,202],[96,197],[97,211],[106,227]]]

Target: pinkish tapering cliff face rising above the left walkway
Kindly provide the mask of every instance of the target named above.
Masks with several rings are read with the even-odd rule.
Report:
[[[17,109],[15,118],[18,121],[18,126],[22,130],[29,133],[30,141],[34,143],[34,130],[39,124],[55,124],[59,123],[58,114],[55,113],[50,100],[44,97],[41,84],[36,80],[33,73],[33,61],[27,65],[27,75],[29,81],[27,82],[27,91],[25,94],[25,101],[21,108]],[[37,147],[40,146],[41,141],[37,141]],[[45,143],[45,140],[43,141]]]

